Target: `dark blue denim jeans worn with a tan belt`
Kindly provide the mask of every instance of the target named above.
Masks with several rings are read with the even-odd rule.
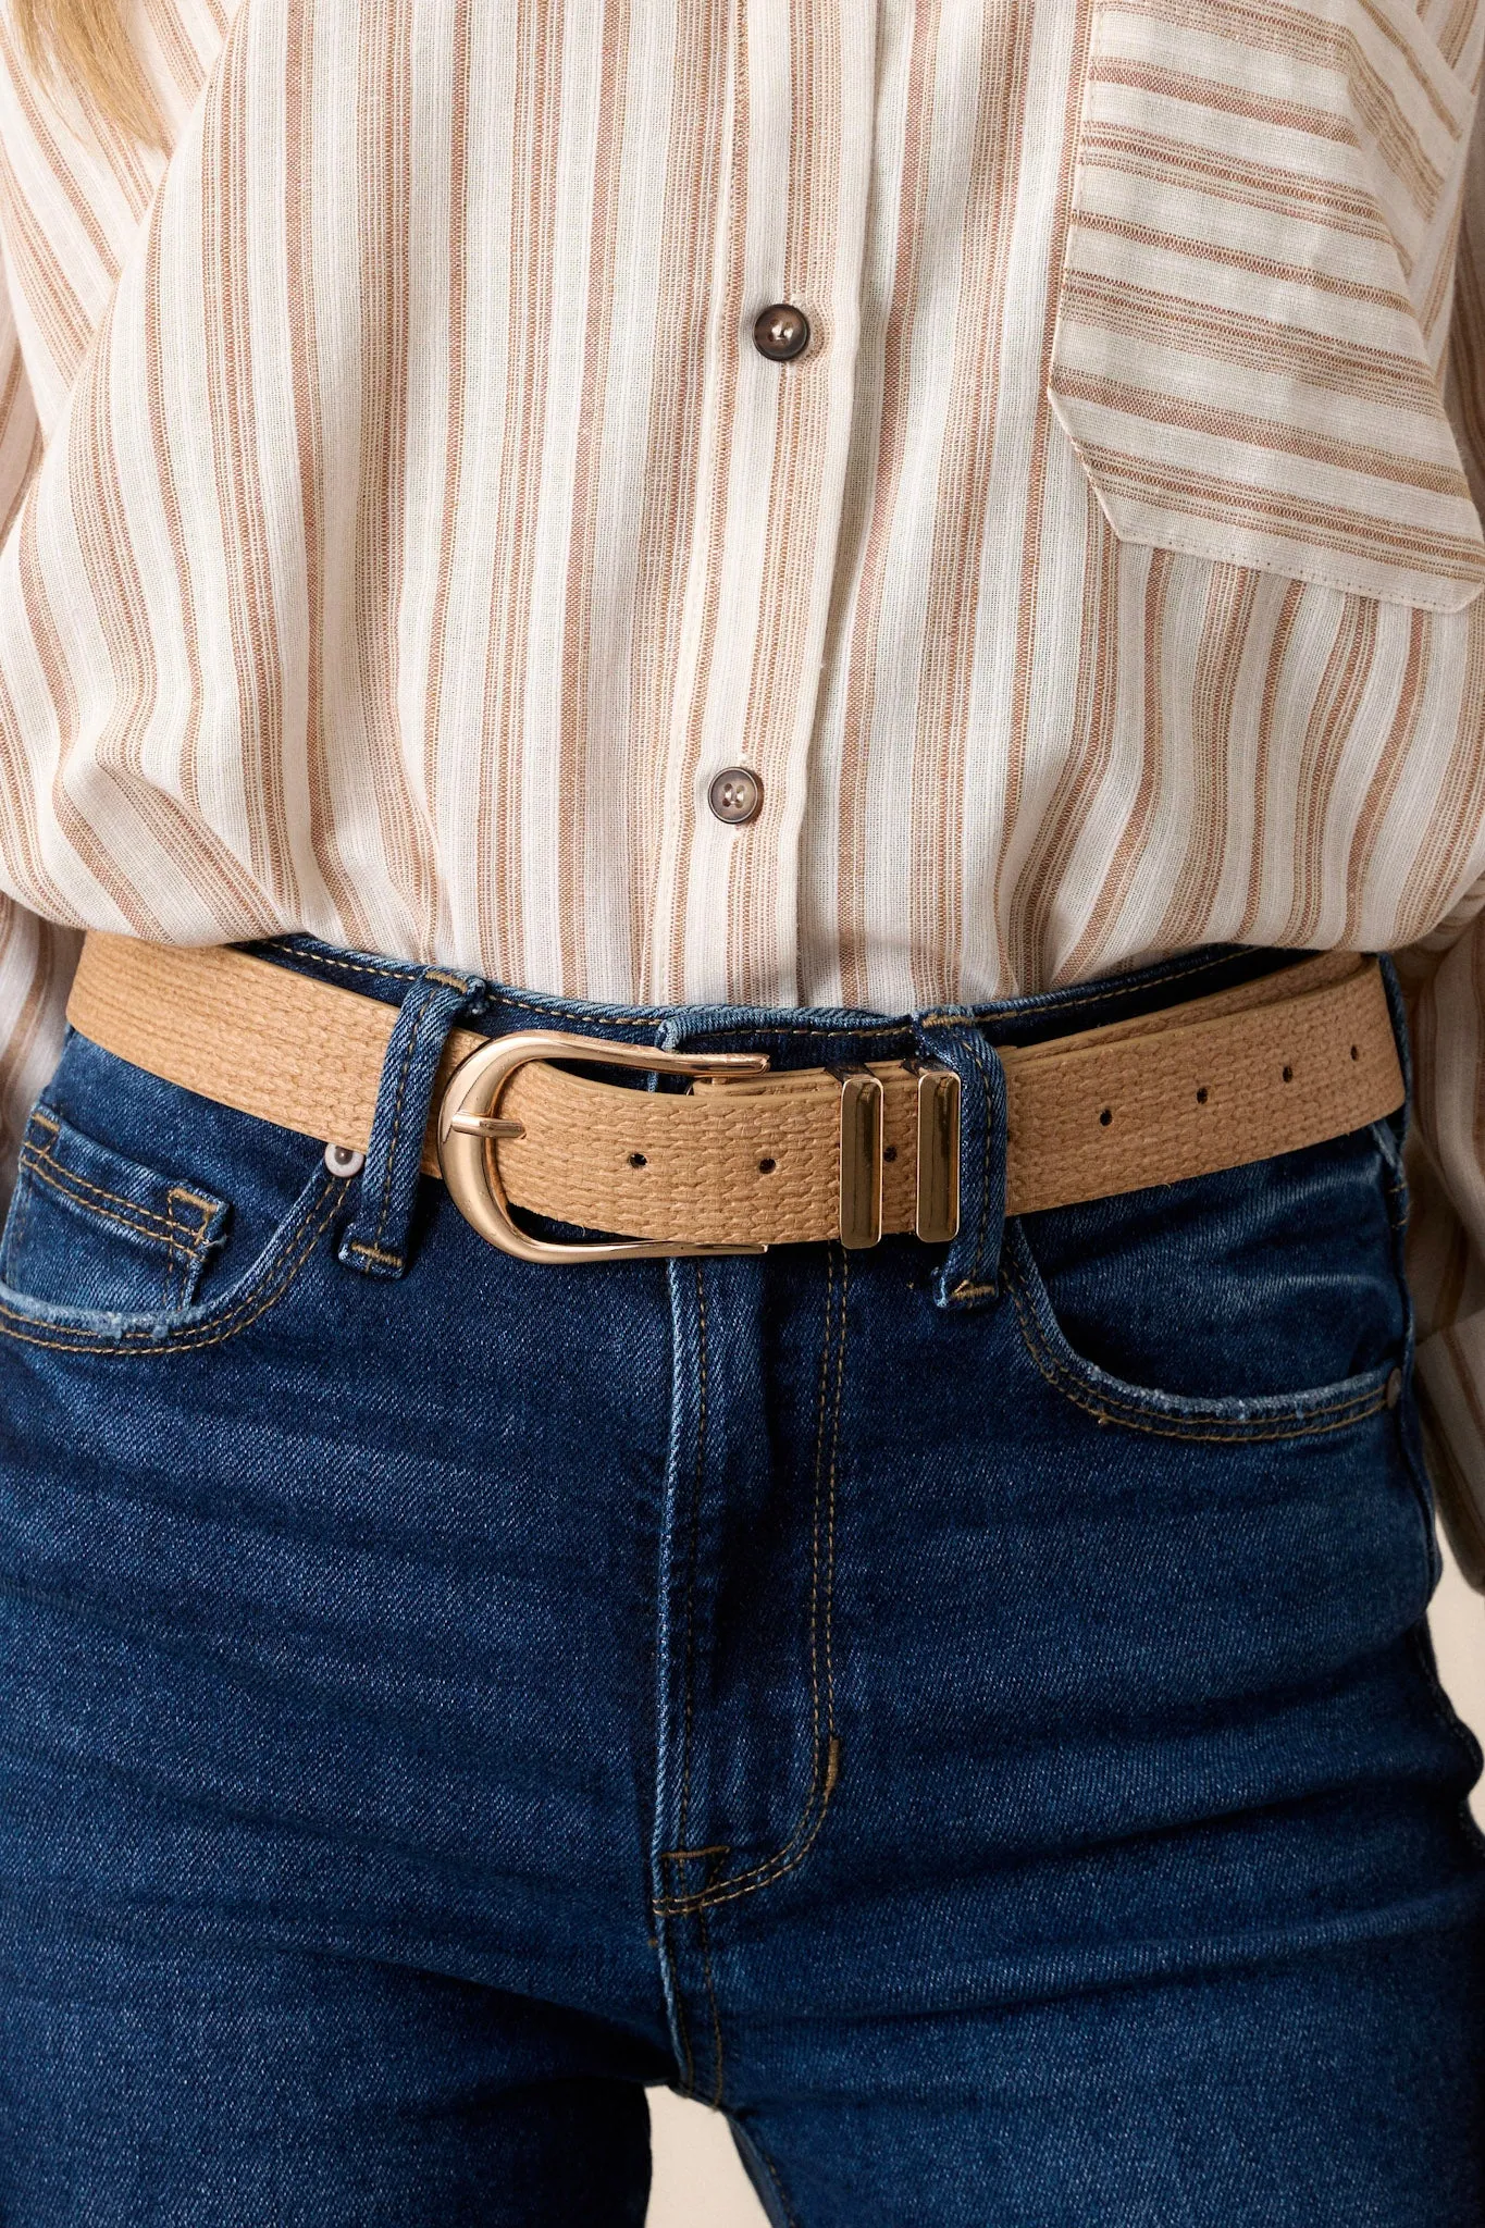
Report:
[[[0,1250],[0,2221],[1478,2228],[1398,1123],[1004,1221],[991,1014],[401,1003],[367,1167],[71,1038]],[[532,1268],[452,1018],[964,1074],[964,1234]],[[984,1027],[980,1027],[984,1023]],[[412,1152],[412,1161],[410,1161]]]

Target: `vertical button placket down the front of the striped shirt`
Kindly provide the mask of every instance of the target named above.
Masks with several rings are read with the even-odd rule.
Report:
[[[735,0],[728,192],[648,996],[797,998],[799,842],[842,526],[875,7]]]

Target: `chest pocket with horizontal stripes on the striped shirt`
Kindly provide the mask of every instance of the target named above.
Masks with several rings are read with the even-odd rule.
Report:
[[[1407,0],[1100,0],[1051,405],[1124,541],[1461,610],[1474,100]]]

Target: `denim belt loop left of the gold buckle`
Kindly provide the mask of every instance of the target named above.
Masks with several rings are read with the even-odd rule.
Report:
[[[341,1261],[363,1277],[401,1277],[419,1196],[423,1134],[448,1032],[483,989],[476,976],[423,967],[403,998],[376,1087],[361,1203],[341,1239]]]

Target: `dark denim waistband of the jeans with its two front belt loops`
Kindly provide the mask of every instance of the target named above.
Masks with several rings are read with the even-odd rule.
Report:
[[[993,1005],[868,1014],[835,1007],[606,1005],[510,989],[476,974],[376,954],[336,951],[314,938],[252,945],[258,958],[399,1007],[376,1098],[361,1203],[341,1261],[367,1277],[401,1277],[419,1192],[421,1143],[452,1027],[494,1036],[566,1029],[663,1052],[766,1052],[777,1069],[919,1056],[960,1076],[960,1234],[940,1254],[942,1308],[977,1308],[1000,1288],[1006,1190],[1006,1087],[997,1045],[1033,1045],[1231,989],[1307,954],[1249,947],[1182,951],[1138,971]],[[915,1241],[913,1241],[915,1243]]]

